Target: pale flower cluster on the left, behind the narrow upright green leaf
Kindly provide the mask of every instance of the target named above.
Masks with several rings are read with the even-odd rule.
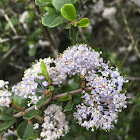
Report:
[[[53,59],[45,58],[36,61],[36,63],[32,65],[32,68],[25,71],[22,81],[12,87],[12,92],[15,95],[19,95],[22,98],[30,98],[32,104],[36,104],[41,99],[44,90],[48,89],[48,82],[45,81],[45,77],[38,75],[38,73],[41,73],[40,64],[42,61],[44,61],[47,66],[53,85],[60,85],[62,80],[66,78],[66,75],[57,71],[55,67],[50,66],[51,63],[55,64]],[[36,95],[36,93],[39,94]]]

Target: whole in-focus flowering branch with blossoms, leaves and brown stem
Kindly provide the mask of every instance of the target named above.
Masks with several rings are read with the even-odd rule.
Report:
[[[74,113],[78,123],[92,131],[95,128],[112,129],[114,122],[117,123],[118,112],[127,107],[122,86],[128,81],[120,76],[117,68],[105,63],[100,54],[86,44],[74,45],[56,59],[44,58],[33,63],[12,91],[8,91],[8,82],[0,80],[0,106],[5,112],[1,114],[4,121],[0,126],[2,133],[12,125],[14,127],[17,119],[23,116],[24,121],[17,128],[20,139],[55,140],[65,136],[69,132],[68,121],[62,107],[57,105],[57,99],[67,101],[65,111],[71,111],[72,95],[78,93],[82,93],[83,99]],[[74,75],[81,79],[81,89],[58,94],[56,89]],[[52,101],[55,104],[47,107]],[[6,112],[10,106],[21,112],[15,110],[8,117]]]

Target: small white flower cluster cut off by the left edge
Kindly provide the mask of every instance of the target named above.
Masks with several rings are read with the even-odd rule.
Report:
[[[11,93],[8,91],[9,82],[0,80],[0,107],[9,107]]]

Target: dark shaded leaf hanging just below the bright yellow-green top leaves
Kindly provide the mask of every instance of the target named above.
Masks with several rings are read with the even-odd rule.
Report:
[[[71,28],[69,30],[69,37],[74,42],[76,42],[76,40],[77,40],[77,33],[78,33],[78,28],[74,27],[74,26],[71,26]]]

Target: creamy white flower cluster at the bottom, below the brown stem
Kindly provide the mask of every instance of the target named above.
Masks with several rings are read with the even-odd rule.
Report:
[[[43,140],[56,140],[69,132],[66,116],[62,107],[55,104],[50,105],[45,111],[44,123],[42,124],[41,137]]]

